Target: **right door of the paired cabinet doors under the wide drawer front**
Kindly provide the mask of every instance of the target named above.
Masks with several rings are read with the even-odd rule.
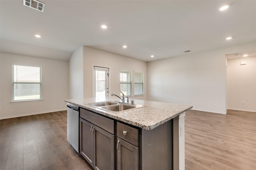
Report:
[[[114,170],[114,139],[114,135],[95,126],[93,166],[95,170]]]

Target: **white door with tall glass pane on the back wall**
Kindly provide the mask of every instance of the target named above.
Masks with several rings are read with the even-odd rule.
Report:
[[[94,66],[93,75],[93,97],[108,97],[109,68]]]

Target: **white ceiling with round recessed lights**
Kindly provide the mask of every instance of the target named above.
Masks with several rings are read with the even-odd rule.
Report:
[[[153,61],[256,41],[255,0],[40,1],[44,12],[0,0],[1,52],[68,61],[88,46]]]

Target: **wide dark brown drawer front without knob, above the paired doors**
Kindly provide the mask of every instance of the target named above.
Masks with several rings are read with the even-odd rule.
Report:
[[[114,134],[114,120],[108,119],[83,108],[80,108],[80,117],[104,129],[105,131]]]

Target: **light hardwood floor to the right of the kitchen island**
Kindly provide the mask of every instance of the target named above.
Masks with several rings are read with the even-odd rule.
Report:
[[[256,170],[256,113],[187,111],[185,168]]]

